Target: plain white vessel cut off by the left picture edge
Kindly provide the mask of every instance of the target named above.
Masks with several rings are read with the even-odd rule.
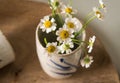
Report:
[[[15,54],[13,52],[13,49],[6,37],[0,31],[0,68],[13,62],[14,60]]]

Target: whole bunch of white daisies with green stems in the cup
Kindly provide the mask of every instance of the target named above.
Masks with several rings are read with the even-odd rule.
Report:
[[[75,17],[77,11],[69,5],[64,5],[58,0],[48,0],[52,14],[44,16],[39,23],[39,27],[43,32],[44,47],[47,53],[52,56],[53,53],[70,54],[81,44],[87,45],[87,50],[84,49],[85,57],[81,60],[81,65],[88,68],[93,62],[93,57],[89,55],[92,52],[95,36],[90,37],[89,41],[80,40],[80,36],[85,31],[86,26],[95,18],[103,20],[101,10],[106,10],[102,0],[99,0],[100,5],[94,7],[90,12],[86,21],[81,24],[78,18]]]

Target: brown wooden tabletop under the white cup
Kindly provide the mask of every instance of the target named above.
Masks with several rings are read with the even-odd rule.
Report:
[[[88,69],[79,68],[68,79],[53,79],[41,68],[35,47],[35,29],[50,14],[48,5],[23,0],[0,0],[0,29],[10,41],[16,60],[0,69],[0,83],[119,83],[118,74],[97,37]],[[88,37],[94,35],[87,30]]]

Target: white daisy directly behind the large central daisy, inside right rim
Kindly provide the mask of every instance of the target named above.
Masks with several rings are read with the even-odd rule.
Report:
[[[82,28],[82,24],[80,23],[80,21],[77,18],[69,17],[69,18],[65,19],[65,24],[63,25],[63,27],[76,32]]]

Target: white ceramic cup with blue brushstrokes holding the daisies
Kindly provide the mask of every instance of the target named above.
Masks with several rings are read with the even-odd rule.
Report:
[[[82,48],[79,46],[70,54],[54,54],[48,56],[45,48],[40,42],[40,29],[36,29],[36,50],[42,69],[51,77],[62,79],[70,77],[79,67]],[[80,39],[85,40],[85,32],[82,33]]]

